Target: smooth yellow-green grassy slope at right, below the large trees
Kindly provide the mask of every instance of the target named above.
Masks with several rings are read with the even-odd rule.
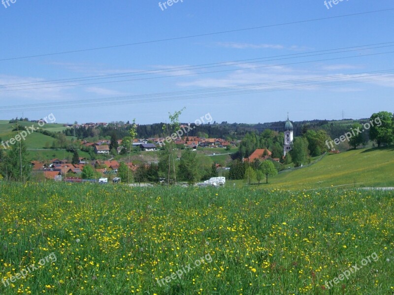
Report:
[[[261,188],[312,189],[338,186],[394,186],[394,148],[370,148],[329,154],[316,164],[275,177]],[[240,181],[228,181],[228,184]]]

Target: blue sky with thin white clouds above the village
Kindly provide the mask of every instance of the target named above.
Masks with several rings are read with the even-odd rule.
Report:
[[[217,122],[263,123],[287,112],[297,121],[393,111],[394,74],[383,71],[394,69],[394,10],[332,18],[394,8],[393,1],[344,0],[329,9],[322,0],[183,0],[164,10],[157,0],[5,6],[0,119],[52,113],[57,122],[154,123],[186,107],[184,122],[210,113]],[[330,19],[294,23],[320,18]],[[293,24],[14,59],[284,23]],[[340,48],[348,49],[327,51]],[[53,81],[83,77],[100,79]],[[178,91],[194,92],[164,94]],[[113,97],[138,103],[114,104]],[[72,108],[62,109],[63,101],[74,101]]]

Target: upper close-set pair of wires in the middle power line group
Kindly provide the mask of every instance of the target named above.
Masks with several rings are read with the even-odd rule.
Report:
[[[392,41],[392,42],[375,43],[375,44],[352,46],[352,47],[343,47],[343,48],[336,48],[336,49],[311,51],[311,52],[305,52],[305,53],[279,55],[279,56],[272,56],[272,57],[230,60],[230,61],[222,61],[222,62],[215,62],[215,63],[172,67],[172,68],[164,68],[164,69],[156,69],[156,70],[135,71],[135,72],[127,72],[127,73],[119,73],[119,74],[108,74],[108,75],[77,77],[77,78],[48,80],[48,81],[3,84],[3,85],[0,85],[0,89],[1,88],[16,88],[16,87],[28,87],[28,86],[38,86],[38,85],[50,85],[50,84],[59,84],[59,83],[71,83],[71,82],[81,82],[81,81],[91,81],[91,80],[101,80],[101,79],[122,78],[122,77],[147,75],[147,74],[177,72],[180,70],[196,70],[196,69],[204,69],[204,68],[212,68],[212,67],[233,66],[233,65],[248,64],[248,63],[282,60],[282,59],[270,59],[270,58],[283,58],[283,57],[287,57],[287,58],[283,58],[283,59],[304,58],[304,57],[319,56],[319,55],[325,55],[325,54],[337,54],[337,53],[346,53],[346,52],[352,52],[352,51],[361,51],[361,50],[370,50],[370,49],[377,49],[377,48],[384,48],[384,47],[392,47],[394,45],[388,45],[388,44],[393,44],[393,43],[394,42]],[[384,46],[376,46],[376,45],[384,45]],[[370,47],[370,46],[376,46],[376,47]],[[362,48],[362,47],[368,47],[368,48]],[[357,48],[357,49],[355,49],[355,48]],[[338,51],[338,50],[344,50],[344,51]],[[337,51],[337,52],[329,52],[329,51]],[[323,53],[323,52],[325,52],[325,53]],[[316,53],[318,53],[318,54],[316,54]],[[313,55],[311,55],[311,54],[313,54]],[[303,56],[301,56],[301,55],[303,55]],[[258,60],[258,59],[265,59],[265,60]],[[246,61],[246,62],[241,62],[241,61]],[[236,63],[236,62],[239,62],[239,63]]]

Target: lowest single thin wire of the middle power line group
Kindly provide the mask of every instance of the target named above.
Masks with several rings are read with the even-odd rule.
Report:
[[[317,60],[299,61],[299,62],[291,62],[291,63],[281,63],[281,64],[262,65],[262,66],[250,67],[250,68],[248,68],[248,69],[250,70],[250,69],[258,69],[258,68],[265,68],[265,67],[275,67],[275,66],[282,66],[282,65],[294,65],[294,64],[310,63],[310,62],[317,62],[317,61],[337,60],[337,59],[361,58],[361,57],[367,57],[367,56],[375,56],[375,55],[383,55],[383,54],[392,54],[392,53],[394,53],[394,51],[383,52],[383,53],[365,54],[365,55],[357,55],[357,56],[350,56],[350,57],[332,58],[332,59],[317,59]],[[95,83],[84,83],[84,84],[71,84],[71,85],[58,85],[58,86],[35,87],[35,88],[25,88],[25,89],[6,89],[6,90],[0,90],[0,92],[4,92],[4,91],[32,90],[32,89],[63,88],[63,87],[72,87],[72,86],[97,85],[97,84],[109,84],[109,83],[130,82],[130,81],[141,81],[141,80],[151,80],[151,79],[161,79],[161,78],[173,78],[173,77],[184,77],[184,76],[194,76],[194,75],[201,75],[201,74],[223,73],[223,72],[244,71],[244,70],[245,70],[245,69],[230,69],[230,70],[209,71],[209,72],[202,72],[202,73],[191,73],[191,74],[180,74],[180,75],[171,75],[171,76],[159,76],[159,77],[149,77],[149,78],[127,79],[127,80],[118,80],[118,81],[106,81],[106,82],[95,82]]]

